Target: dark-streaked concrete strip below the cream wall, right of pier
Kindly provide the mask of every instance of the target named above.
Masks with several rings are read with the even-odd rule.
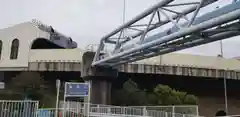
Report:
[[[228,69],[210,69],[191,66],[177,65],[154,65],[154,64],[124,64],[119,68],[120,72],[144,73],[144,74],[168,74],[178,76],[197,76],[209,78],[240,79],[240,71]]]

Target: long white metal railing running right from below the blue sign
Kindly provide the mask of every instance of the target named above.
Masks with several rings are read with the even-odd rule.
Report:
[[[112,105],[88,104],[81,102],[60,102],[60,108],[73,109],[79,108],[83,115],[86,115],[86,110],[89,109],[89,116],[99,117],[104,116],[151,116],[151,117],[196,117],[198,116],[197,106],[145,106],[145,107],[120,107]],[[168,108],[169,110],[167,110]],[[193,111],[187,112],[186,110]],[[78,109],[78,110],[79,110]],[[179,111],[179,110],[182,111]],[[185,109],[185,113],[184,110]],[[87,111],[88,112],[88,111]],[[194,114],[193,114],[194,113]],[[97,116],[98,115],[98,116]]]

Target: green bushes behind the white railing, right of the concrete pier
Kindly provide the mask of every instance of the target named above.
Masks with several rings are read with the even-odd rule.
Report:
[[[123,88],[113,92],[113,103],[118,105],[196,105],[194,95],[180,92],[167,85],[157,85],[153,91],[140,90],[135,82],[128,80]]]

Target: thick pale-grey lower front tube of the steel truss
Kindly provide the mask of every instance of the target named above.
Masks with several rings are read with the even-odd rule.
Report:
[[[228,12],[224,12],[225,14],[222,14],[218,17],[216,15],[214,15],[216,17],[209,19],[208,21],[202,22],[200,24],[196,24],[194,26],[191,26],[191,27],[183,29],[183,30],[179,30],[175,33],[172,33],[172,34],[164,36],[164,37],[159,37],[160,35],[158,35],[158,34],[151,36],[151,38],[155,38],[155,40],[148,42],[148,43],[144,43],[144,44],[134,47],[132,49],[125,50],[125,51],[117,53],[115,55],[109,56],[102,60],[95,61],[95,62],[93,62],[92,65],[97,65],[97,64],[107,62],[112,59],[117,59],[124,55],[135,53],[135,52],[138,52],[141,50],[145,50],[150,47],[157,46],[162,43],[165,43],[165,42],[168,42],[168,41],[171,41],[174,39],[178,39],[178,38],[186,36],[186,35],[190,35],[192,33],[197,33],[197,32],[200,32],[200,31],[203,31],[206,29],[210,29],[212,27],[215,27],[215,26],[218,26],[218,25],[230,22],[230,21],[234,21],[240,17],[240,2],[237,2],[236,4],[230,4],[225,7],[216,9],[214,12],[215,13],[218,13],[220,11],[223,12],[223,9],[228,10]],[[146,58],[149,58],[149,57],[146,57]]]

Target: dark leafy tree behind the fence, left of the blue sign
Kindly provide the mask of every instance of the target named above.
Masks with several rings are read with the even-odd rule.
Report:
[[[55,85],[54,85],[55,86]],[[31,100],[40,100],[40,105],[49,104],[49,99],[55,98],[53,91],[55,89],[50,82],[47,82],[38,72],[21,72],[13,77],[6,88],[13,93],[18,93],[23,98]]]

